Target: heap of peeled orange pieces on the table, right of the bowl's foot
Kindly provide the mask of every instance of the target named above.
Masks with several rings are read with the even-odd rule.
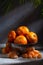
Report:
[[[33,50],[33,51],[28,51],[27,53],[24,53],[22,57],[23,58],[41,58],[42,55],[39,51]]]

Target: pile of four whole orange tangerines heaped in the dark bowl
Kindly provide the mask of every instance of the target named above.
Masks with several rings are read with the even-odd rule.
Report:
[[[38,42],[38,36],[36,33],[29,31],[26,26],[20,26],[16,31],[9,32],[8,41],[23,45],[29,44],[29,42],[35,44]]]

